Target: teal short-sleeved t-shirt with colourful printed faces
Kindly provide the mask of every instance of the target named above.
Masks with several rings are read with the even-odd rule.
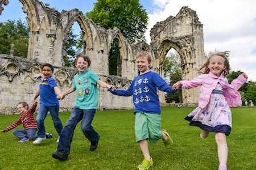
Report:
[[[73,79],[72,88],[76,89],[75,107],[79,109],[98,108],[97,80],[100,79],[92,70],[76,74]]]

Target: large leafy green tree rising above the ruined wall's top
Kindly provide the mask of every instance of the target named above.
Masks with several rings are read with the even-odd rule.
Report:
[[[119,28],[132,43],[144,40],[148,16],[139,0],[98,0],[85,15],[106,29]]]

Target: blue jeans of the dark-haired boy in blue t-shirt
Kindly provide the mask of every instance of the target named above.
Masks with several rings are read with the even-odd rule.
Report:
[[[46,137],[46,129],[44,128],[44,120],[46,119],[47,112],[51,113],[53,125],[60,135],[61,130],[63,129],[62,123],[59,118],[59,105],[53,107],[45,107],[40,105],[38,110],[38,116],[36,116],[36,124],[38,124],[38,137]]]

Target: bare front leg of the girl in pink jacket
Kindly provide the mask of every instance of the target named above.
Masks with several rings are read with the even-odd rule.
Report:
[[[220,164],[226,165],[228,160],[228,145],[226,144],[225,133],[216,133],[215,140],[218,147],[218,161]]]

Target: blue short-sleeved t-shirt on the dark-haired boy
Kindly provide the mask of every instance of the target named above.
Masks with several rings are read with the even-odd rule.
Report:
[[[53,89],[56,86],[57,83],[52,77],[41,80],[39,84],[40,105],[45,107],[59,105],[59,100],[57,100],[57,95]]]

